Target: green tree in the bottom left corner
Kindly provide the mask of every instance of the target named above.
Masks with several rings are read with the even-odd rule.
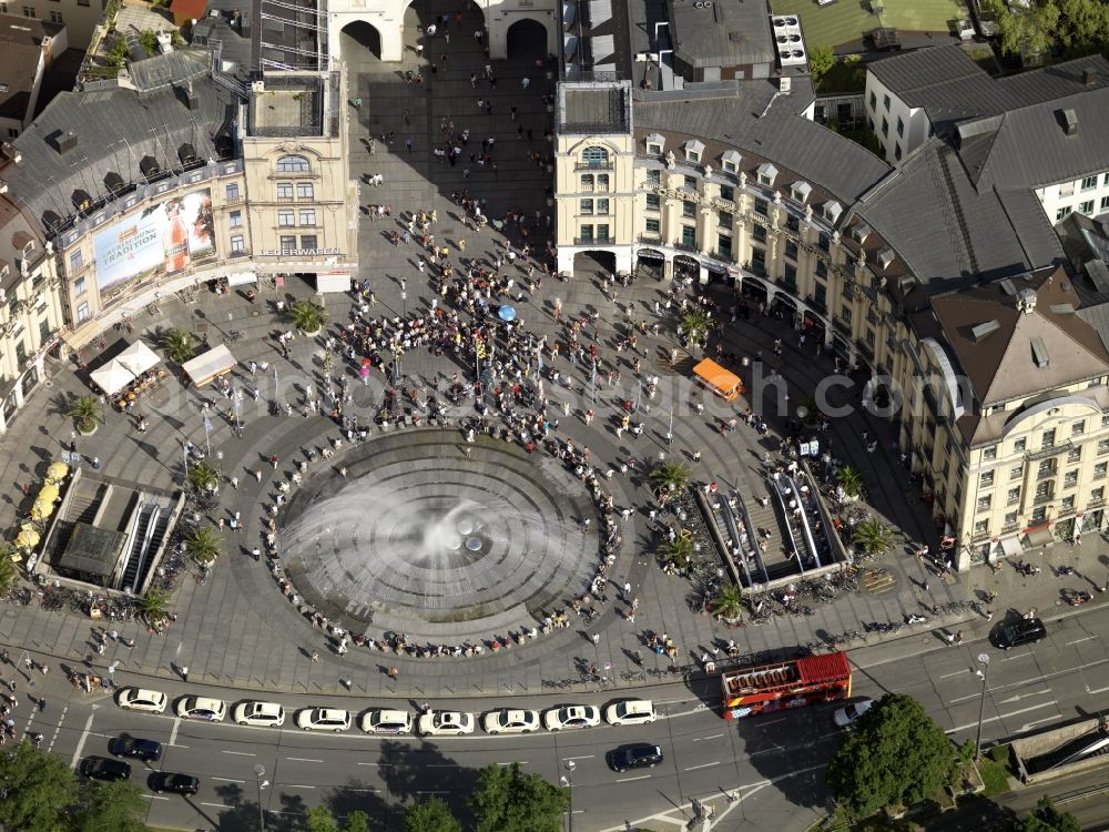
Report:
[[[77,774],[60,757],[28,740],[0,754],[0,826],[21,832],[61,832],[61,811],[78,795]],[[103,829],[111,829],[104,826]]]

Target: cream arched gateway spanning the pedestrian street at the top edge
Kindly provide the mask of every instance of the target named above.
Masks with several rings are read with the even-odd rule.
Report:
[[[561,19],[556,0],[477,0],[475,4],[484,17],[482,37],[488,39],[490,58],[503,59],[508,55],[509,30],[522,21],[542,26],[547,32],[548,54],[559,53]],[[380,39],[380,59],[399,61],[404,55],[405,17],[410,6],[411,0],[330,0],[327,4],[327,28],[332,58],[342,58],[339,34],[346,27],[368,23],[377,30]],[[431,21],[421,22],[427,26]],[[441,23],[437,20],[436,26]],[[450,16],[447,26],[455,27],[454,16]],[[472,32],[451,33],[456,38],[474,35]],[[416,35],[409,33],[408,37]]]

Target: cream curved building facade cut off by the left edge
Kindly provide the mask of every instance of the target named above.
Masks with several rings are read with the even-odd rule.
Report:
[[[30,217],[0,196],[0,434],[47,377],[62,327],[53,246]]]

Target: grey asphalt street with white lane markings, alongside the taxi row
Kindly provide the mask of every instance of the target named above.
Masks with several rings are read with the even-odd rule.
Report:
[[[856,650],[851,653],[857,666],[853,693],[907,693],[922,701],[955,741],[973,739],[981,693],[974,672],[975,657],[985,651],[993,662],[984,744],[1105,709],[1109,701],[1109,651],[1099,633],[1109,627],[1109,609],[1082,610],[1058,620],[1048,616],[1046,621],[1049,638],[1045,642],[1008,653],[980,640],[948,647],[933,632]],[[126,674],[119,681],[146,683]],[[477,770],[490,762],[519,761],[526,770],[557,781],[566,774],[564,763],[573,760],[576,829],[599,832],[622,829],[625,821],[657,823],[658,819],[651,820],[654,815],[675,818],[682,806],[688,811],[693,798],[718,806],[722,830],[747,824],[803,828],[824,806],[823,768],[840,735],[832,726],[833,709],[820,707],[726,722],[714,711],[716,683],[710,679],[695,683],[693,690],[675,683],[637,691],[637,696],[652,697],[664,716],[651,726],[541,732],[525,738],[480,733],[466,738],[375,738],[356,728],[339,735],[317,735],[293,726],[293,712],[299,707],[327,704],[360,712],[394,703],[379,698],[272,694],[288,716],[283,729],[269,730],[231,722],[181,721],[169,713],[125,712],[106,697],[79,698],[81,694],[74,693],[63,704],[53,688],[49,696],[58,701],[45,713],[22,710],[20,728],[44,733],[44,745],[73,762],[90,753],[105,753],[106,741],[120,733],[167,743],[156,768],[197,774],[202,790],[195,799],[149,795],[149,822],[153,824],[250,828],[257,812],[254,767],[262,764],[264,779],[272,783],[263,792],[272,829],[282,829],[283,819],[288,828],[295,828],[306,808],[326,803],[340,814],[366,810],[375,819],[374,829],[391,832],[400,829],[406,803],[430,793],[465,795]],[[39,687],[43,687],[41,681]],[[157,687],[171,699],[186,691],[225,697],[228,703],[241,697],[233,690],[203,684],[160,682]],[[451,700],[449,707],[484,711],[510,703],[545,709],[567,702],[601,704],[619,698],[615,692],[515,697],[510,702],[484,698]],[[410,700],[396,704],[409,710],[418,707]],[[658,743],[665,762],[648,772],[610,771],[607,752],[639,741]],[[135,763],[138,782],[144,781],[146,772]],[[741,800],[729,803],[728,792],[737,793]]]

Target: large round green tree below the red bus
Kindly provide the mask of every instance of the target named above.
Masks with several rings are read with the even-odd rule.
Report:
[[[887,693],[855,722],[828,763],[833,797],[854,818],[912,805],[948,782],[955,748],[912,697]]]

